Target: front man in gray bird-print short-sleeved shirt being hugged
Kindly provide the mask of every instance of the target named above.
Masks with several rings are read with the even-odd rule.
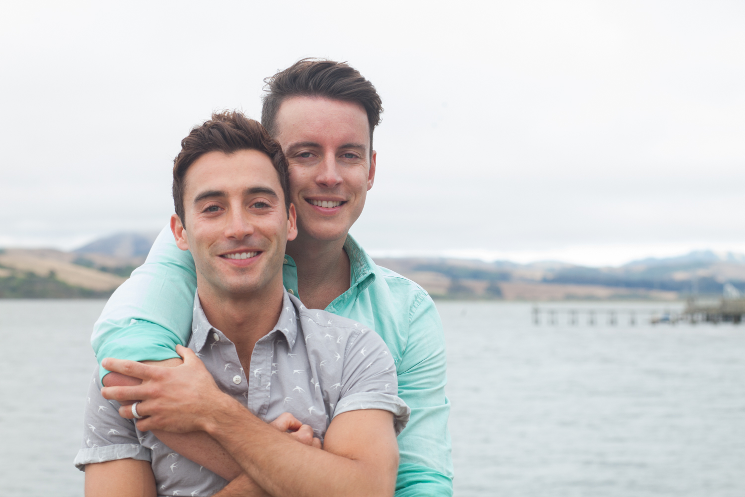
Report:
[[[376,333],[285,291],[287,198],[285,158],[256,121],[213,115],[183,140],[171,228],[197,268],[191,339],[177,367],[106,360],[139,386],[101,389],[96,370],[75,460],[86,496],[393,495],[409,415],[393,359]],[[174,433],[219,443],[238,472],[169,449]]]

